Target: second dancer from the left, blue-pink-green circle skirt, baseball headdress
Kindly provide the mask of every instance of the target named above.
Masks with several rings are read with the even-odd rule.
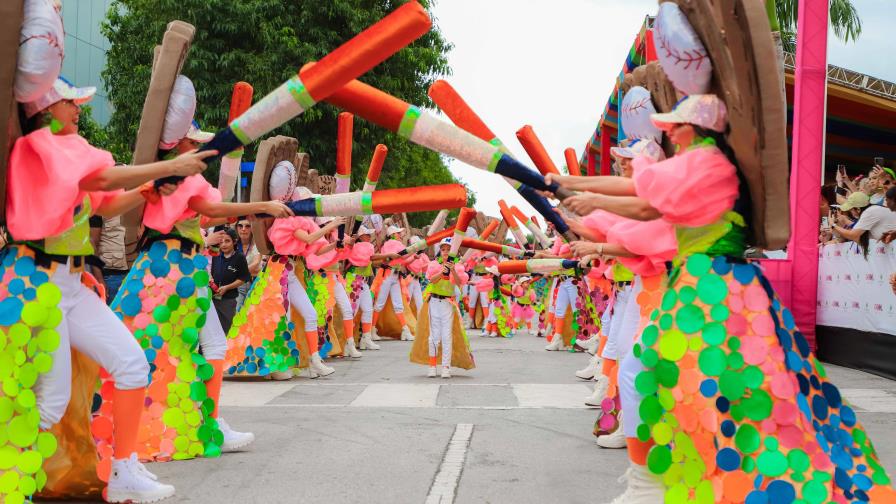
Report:
[[[173,117],[183,111],[192,115],[195,96],[189,79],[178,77],[167,124],[183,123],[189,129],[180,132],[183,137],[163,158],[211,140],[213,135],[199,130],[191,117],[182,121]],[[189,105],[179,103],[184,101]],[[285,217],[291,212],[279,201],[223,203],[220,191],[202,175],[184,179],[173,195],[146,203],[140,253],[111,304],[150,363],[143,414],[147,428],[138,439],[141,459],[217,456],[254,439],[251,433],[234,431],[218,416],[227,339],[217,310],[210,308],[210,261],[201,233],[201,228],[228,218],[254,214]],[[186,406],[189,402],[191,408]]]

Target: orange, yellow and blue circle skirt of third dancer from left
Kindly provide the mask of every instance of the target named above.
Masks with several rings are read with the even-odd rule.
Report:
[[[295,323],[288,316],[288,257],[275,256],[256,277],[227,334],[225,373],[268,376],[299,367]]]

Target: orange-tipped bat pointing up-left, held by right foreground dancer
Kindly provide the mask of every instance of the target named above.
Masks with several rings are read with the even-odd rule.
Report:
[[[417,145],[451,156],[480,170],[504,175],[538,190],[551,191],[561,199],[572,196],[570,191],[557,184],[545,184],[541,174],[520,163],[498,146],[363,82],[349,82],[327,97],[326,101]]]

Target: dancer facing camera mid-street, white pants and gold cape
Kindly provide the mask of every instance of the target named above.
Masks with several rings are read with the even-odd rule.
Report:
[[[439,257],[426,269],[429,285],[420,307],[420,325],[411,362],[429,366],[427,376],[437,376],[441,356],[442,378],[451,378],[451,367],[473,369],[476,367],[470,342],[464,331],[460,310],[454,301],[454,288],[469,280],[461,265],[454,264],[450,256],[451,239],[439,243]]]

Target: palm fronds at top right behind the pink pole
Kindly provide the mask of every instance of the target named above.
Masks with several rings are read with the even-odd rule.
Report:
[[[830,24],[834,35],[844,42],[855,42],[862,34],[862,20],[851,0],[829,0]],[[766,0],[772,31],[780,31],[784,49],[796,48],[796,23],[799,0]],[[773,7],[773,8],[772,8]]]

